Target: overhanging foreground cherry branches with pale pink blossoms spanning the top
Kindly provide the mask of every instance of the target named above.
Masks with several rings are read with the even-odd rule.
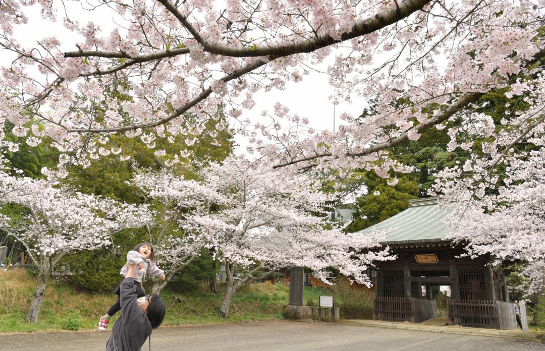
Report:
[[[487,215],[514,211],[516,206],[502,204],[502,197],[519,203],[506,195],[521,183],[523,173],[516,170],[532,171],[534,161],[543,164],[543,105],[534,94],[543,85],[541,0],[97,0],[76,10],[68,4],[0,2],[0,46],[9,56],[0,76],[0,118],[15,124],[13,133],[28,144],[44,136],[55,141],[64,156],[51,177],[101,153],[123,157],[120,149],[109,149],[108,133],[140,137],[152,148],[156,138],[177,135],[191,144],[196,135],[213,136],[203,122],[216,119],[216,129],[245,135],[250,152],[286,174],[330,168],[347,174],[356,167],[380,177],[409,172],[387,150],[417,140],[427,128],[449,128],[453,147],[470,148],[472,142],[489,139],[490,150],[484,152],[492,163],[475,158],[465,165],[469,170],[461,168],[477,181],[464,182],[459,170],[452,170],[437,188],[447,197],[463,188],[482,201],[481,185],[488,180],[498,184],[490,170],[509,162],[514,168],[505,172],[507,183],[498,179],[502,195],[487,193],[490,197],[475,205],[475,219],[482,205]],[[37,44],[21,40],[17,29],[28,21],[28,7],[40,8],[47,21],[62,22],[77,39],[54,33]],[[78,17],[83,10],[88,12]],[[117,26],[101,29],[100,17],[113,18]],[[257,92],[284,89],[320,64],[336,89],[334,101],[365,96],[378,104],[377,113],[364,119],[342,114],[345,122],[336,132],[316,132],[310,118],[290,116],[281,104],[263,113],[275,119],[270,124],[240,118],[255,105]],[[535,83],[528,83],[528,76]],[[102,101],[105,90],[130,99],[113,98],[107,109],[98,110],[96,101]],[[492,128],[476,112],[489,92],[514,94],[528,106],[520,115],[506,114],[509,128]],[[225,123],[218,106],[225,111]],[[189,128],[183,125],[186,112],[197,117]],[[285,117],[293,128],[283,130],[278,119]],[[473,138],[456,141],[468,130],[475,131]],[[518,147],[526,141],[535,148]],[[523,166],[527,161],[530,166]],[[530,189],[531,179],[541,184],[532,174],[528,177],[522,183]],[[469,196],[459,198],[469,201]],[[518,218],[532,218],[534,228],[542,229],[535,216],[524,215],[532,213],[532,206],[525,202]],[[537,243],[541,232],[528,232],[531,241]]]

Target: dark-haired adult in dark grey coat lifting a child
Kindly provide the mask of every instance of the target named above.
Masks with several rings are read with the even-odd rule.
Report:
[[[127,262],[127,267],[127,275],[119,286],[122,314],[113,325],[106,351],[140,351],[165,316],[165,304],[159,295],[149,295],[140,301],[136,298],[136,266]]]

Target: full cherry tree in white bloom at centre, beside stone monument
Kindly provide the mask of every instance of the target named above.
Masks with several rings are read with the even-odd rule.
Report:
[[[272,170],[266,162],[231,156],[199,172],[202,185],[218,205],[208,214],[193,214],[187,222],[199,238],[215,249],[225,265],[226,293],[220,315],[228,317],[233,295],[278,269],[307,267],[328,281],[328,268],[370,285],[365,270],[372,261],[389,259],[379,246],[381,233],[368,237],[345,234],[325,220],[328,196],[318,181],[302,174]],[[237,273],[238,281],[233,279]]]

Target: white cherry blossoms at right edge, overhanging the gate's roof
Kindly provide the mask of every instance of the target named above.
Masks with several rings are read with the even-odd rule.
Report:
[[[486,114],[471,116],[452,131],[451,149],[479,153],[463,165],[439,174],[432,190],[455,208],[452,238],[467,243],[472,256],[492,255],[530,263],[528,273],[541,280],[545,261],[545,80],[513,84],[507,93],[522,107],[506,106],[500,125]],[[541,276],[541,277],[540,277]]]

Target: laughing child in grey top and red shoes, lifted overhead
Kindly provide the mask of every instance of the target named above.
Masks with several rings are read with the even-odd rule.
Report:
[[[143,298],[146,296],[146,292],[144,291],[144,288],[142,287],[142,283],[145,281],[144,276],[146,274],[154,276],[154,277],[161,277],[161,281],[165,280],[165,272],[162,269],[159,269],[155,263],[155,254],[153,252],[153,245],[150,243],[140,243],[135,246],[134,250],[129,251],[127,253],[127,262],[136,265],[137,270],[135,271],[135,285],[136,285],[136,297],[137,298]],[[128,268],[125,264],[121,271],[119,272],[120,275],[123,276],[123,279],[125,279],[125,275],[127,274]],[[119,310],[121,310],[121,304],[119,302],[119,285],[123,282],[123,279],[119,282],[119,284],[116,287],[116,290],[114,291],[114,294],[117,294],[117,302],[110,307],[108,312],[100,317],[99,321],[99,330],[106,331],[108,330],[108,323],[110,323],[110,317],[112,317],[114,314],[116,314]]]

